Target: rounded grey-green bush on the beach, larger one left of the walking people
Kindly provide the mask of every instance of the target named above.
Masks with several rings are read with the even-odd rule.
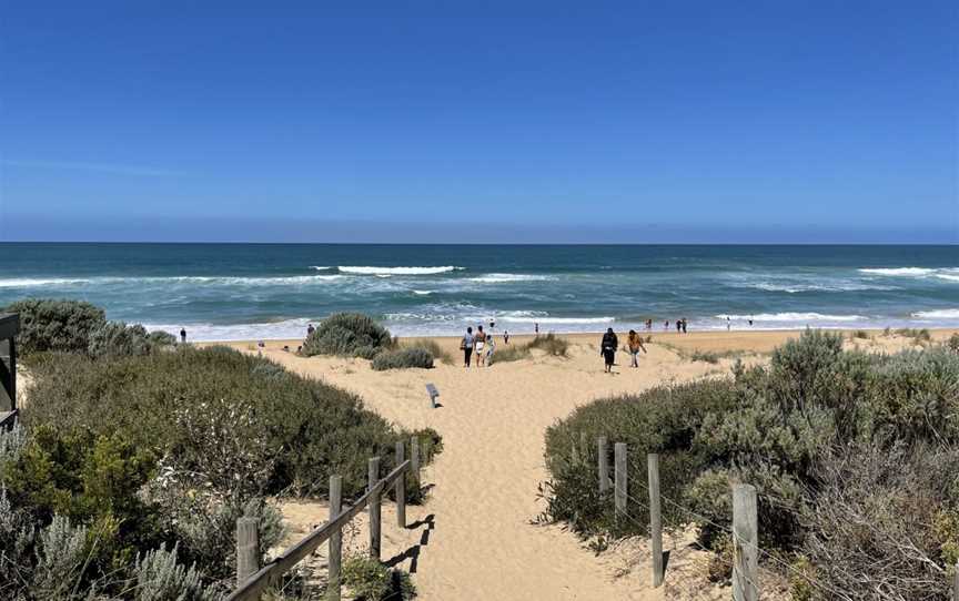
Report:
[[[390,332],[369,315],[335,313],[324,319],[303,343],[303,354],[372,359],[394,346]]]

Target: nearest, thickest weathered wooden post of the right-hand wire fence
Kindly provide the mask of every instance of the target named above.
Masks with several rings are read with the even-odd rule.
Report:
[[[733,599],[757,601],[759,524],[756,489],[749,485],[733,487]]]

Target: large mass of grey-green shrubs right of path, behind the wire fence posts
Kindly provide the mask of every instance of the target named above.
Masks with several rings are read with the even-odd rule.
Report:
[[[878,355],[807,332],[767,366],[600,399],[552,426],[545,518],[582,534],[645,533],[646,509],[632,493],[635,519],[616,520],[596,491],[603,435],[610,447],[627,444],[630,473],[645,472],[646,452],[660,455],[663,495],[674,501],[664,521],[697,524],[707,547],[723,551],[730,485],[749,482],[760,547],[806,558],[804,570],[832,590],[947,599],[943,574],[959,558],[957,411],[959,355],[945,345]]]

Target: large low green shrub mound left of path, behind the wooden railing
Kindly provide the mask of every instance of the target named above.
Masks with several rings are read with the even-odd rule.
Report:
[[[413,434],[364,410],[355,395],[225,347],[109,361],[50,355],[33,377],[27,426],[120,432],[198,486],[262,487],[241,496],[322,496],[332,473],[343,477],[345,496],[362,492],[366,458],[392,457],[395,441]]]

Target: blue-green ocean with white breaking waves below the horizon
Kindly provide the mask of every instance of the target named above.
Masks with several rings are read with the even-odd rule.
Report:
[[[959,246],[0,244],[0,306],[34,296],[194,340],[296,338],[340,310],[400,336],[959,327]]]

